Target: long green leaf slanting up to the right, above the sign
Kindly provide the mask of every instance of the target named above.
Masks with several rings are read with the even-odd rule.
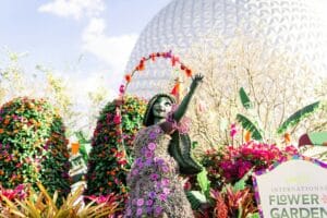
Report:
[[[298,110],[293,114],[291,114],[278,129],[277,133],[282,134],[287,131],[287,129],[296,125],[300,121],[302,121],[304,118],[307,118],[313,112],[318,109],[320,105],[320,101],[313,102],[311,105],[307,105],[303,107],[302,109]]]

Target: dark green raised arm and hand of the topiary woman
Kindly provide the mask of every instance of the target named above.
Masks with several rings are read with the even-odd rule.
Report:
[[[181,101],[181,104],[179,105],[178,109],[173,112],[173,119],[179,122],[182,117],[185,114],[189,104],[192,99],[192,96],[194,95],[194,92],[196,89],[196,87],[199,85],[199,83],[202,83],[203,81],[203,75],[202,74],[195,74],[195,76],[193,77],[193,81],[191,83],[190,86],[190,90],[189,93],[185,95],[185,97],[183,98],[183,100]]]

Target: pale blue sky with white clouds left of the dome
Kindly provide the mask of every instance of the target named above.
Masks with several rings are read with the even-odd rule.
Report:
[[[51,69],[83,94],[117,92],[138,35],[170,0],[1,0],[1,52]],[[1,62],[0,62],[1,63]],[[101,83],[101,84],[99,84]]]

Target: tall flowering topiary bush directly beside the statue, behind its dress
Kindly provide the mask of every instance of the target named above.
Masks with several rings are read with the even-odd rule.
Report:
[[[117,104],[120,104],[119,100],[109,102],[99,114],[88,157],[86,195],[116,193],[126,197],[125,178],[132,162],[129,155],[132,142],[142,128],[146,101],[126,96],[121,105],[121,116],[117,113]]]

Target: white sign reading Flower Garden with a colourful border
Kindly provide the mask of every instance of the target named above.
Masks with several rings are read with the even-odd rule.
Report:
[[[255,197],[264,218],[327,218],[327,165],[294,156],[254,173]]]

